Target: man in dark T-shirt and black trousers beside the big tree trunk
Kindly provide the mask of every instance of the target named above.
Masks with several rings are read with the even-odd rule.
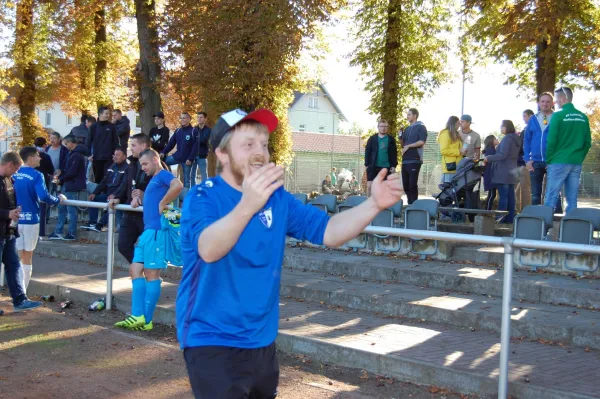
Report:
[[[404,129],[400,137],[402,143],[402,185],[412,204],[419,199],[419,172],[423,164],[423,146],[427,142],[427,128],[419,121],[419,111],[408,110],[406,119],[410,125]]]

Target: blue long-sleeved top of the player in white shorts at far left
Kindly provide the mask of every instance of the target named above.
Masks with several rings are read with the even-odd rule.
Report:
[[[21,206],[19,224],[38,224],[40,222],[40,201],[58,204],[60,201],[48,193],[44,175],[34,168],[22,166],[14,174],[17,205]]]

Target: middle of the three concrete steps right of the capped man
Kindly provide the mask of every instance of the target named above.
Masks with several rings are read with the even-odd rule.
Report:
[[[500,333],[502,297],[285,270],[281,295]],[[600,350],[600,312],[513,301],[511,336]]]

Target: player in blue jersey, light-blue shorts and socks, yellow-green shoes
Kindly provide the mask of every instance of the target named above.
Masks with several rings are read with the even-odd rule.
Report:
[[[161,228],[161,215],[179,196],[183,185],[171,172],[162,168],[160,156],[153,149],[140,154],[140,165],[152,179],[146,187],[143,200],[135,197],[131,206],[144,206],[145,229],[135,247],[133,263],[129,266],[133,286],[131,316],[115,323],[115,326],[148,331],[152,330],[152,316],[160,298],[160,271],[167,267],[167,232]]]

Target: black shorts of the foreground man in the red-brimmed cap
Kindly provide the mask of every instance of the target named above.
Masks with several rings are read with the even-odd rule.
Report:
[[[277,396],[279,363],[275,343],[264,348],[185,348],[196,399],[272,399]]]

